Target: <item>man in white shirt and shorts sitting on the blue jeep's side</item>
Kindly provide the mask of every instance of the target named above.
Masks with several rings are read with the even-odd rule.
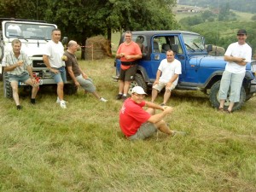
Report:
[[[166,59],[160,62],[156,78],[152,89],[151,102],[154,102],[158,93],[165,87],[164,102],[161,106],[165,106],[171,96],[172,90],[175,89],[179,74],[182,73],[181,63],[174,58],[174,52],[170,49],[166,52]]]

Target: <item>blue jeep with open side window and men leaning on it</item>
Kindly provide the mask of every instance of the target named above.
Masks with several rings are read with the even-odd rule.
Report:
[[[223,56],[211,56],[212,45],[205,46],[204,38],[195,32],[184,31],[138,31],[132,32],[133,41],[142,49],[143,58],[138,61],[137,74],[131,89],[140,85],[145,91],[154,83],[160,61],[166,58],[166,50],[176,52],[175,58],[182,63],[177,90],[201,90],[210,97],[213,108],[218,108],[218,90],[226,62]],[[119,44],[124,41],[122,35]],[[119,77],[120,61],[114,62],[116,76]],[[241,99],[233,110],[241,106],[256,92],[256,61],[247,63],[247,72],[241,87]],[[225,106],[228,106],[228,99]]]

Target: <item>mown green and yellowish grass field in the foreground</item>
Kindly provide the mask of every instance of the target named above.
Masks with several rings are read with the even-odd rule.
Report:
[[[36,106],[23,96],[17,111],[1,82],[0,191],[256,191],[255,97],[224,114],[201,92],[174,91],[166,121],[188,136],[131,143],[119,130],[113,59],[80,65],[107,103],[79,90],[65,110],[41,88]]]

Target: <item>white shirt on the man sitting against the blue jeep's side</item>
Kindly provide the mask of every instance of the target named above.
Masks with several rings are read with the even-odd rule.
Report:
[[[161,71],[161,76],[159,81],[161,83],[168,83],[174,74],[181,74],[181,63],[177,59],[174,59],[172,62],[168,62],[167,59],[164,59],[160,62],[158,69]],[[177,79],[172,83],[177,85]]]

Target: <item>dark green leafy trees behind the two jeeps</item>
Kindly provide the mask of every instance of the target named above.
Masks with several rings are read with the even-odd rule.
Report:
[[[1,0],[0,17],[55,23],[62,34],[84,45],[99,34],[111,42],[115,31],[175,29],[175,5],[176,0]]]

